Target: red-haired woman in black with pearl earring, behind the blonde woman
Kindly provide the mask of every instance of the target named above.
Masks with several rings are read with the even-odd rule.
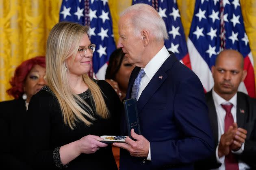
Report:
[[[30,98],[46,85],[46,60],[38,56],[20,64],[14,72],[7,93],[14,100],[0,102],[1,166],[27,170],[24,160],[24,128]]]

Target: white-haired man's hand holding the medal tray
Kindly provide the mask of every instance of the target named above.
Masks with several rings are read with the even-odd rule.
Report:
[[[130,155],[135,157],[148,157],[150,142],[144,138],[142,135],[138,135],[131,130],[132,138],[136,139],[136,141],[132,140],[131,138],[127,137],[125,142],[126,143],[113,143],[114,146],[126,149],[130,152]]]

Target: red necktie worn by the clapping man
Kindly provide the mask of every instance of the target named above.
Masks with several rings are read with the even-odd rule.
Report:
[[[226,116],[225,116],[225,132],[228,131],[228,128],[233,125],[234,119],[231,114],[231,108],[232,104],[230,105],[224,105],[221,104],[222,108],[226,111]],[[238,159],[236,155],[234,155],[231,151],[229,152],[228,155],[225,156],[225,168],[226,170],[239,170],[238,166]]]

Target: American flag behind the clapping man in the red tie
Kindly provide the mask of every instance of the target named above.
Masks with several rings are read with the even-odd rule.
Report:
[[[255,98],[253,57],[239,0],[196,0],[187,46],[192,70],[206,91],[214,85],[210,69],[219,52],[222,49],[239,51],[247,70],[239,91]]]

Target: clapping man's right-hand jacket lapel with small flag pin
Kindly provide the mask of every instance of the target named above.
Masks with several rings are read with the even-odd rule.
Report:
[[[247,107],[245,99],[237,93],[237,99],[236,99],[236,123],[238,127],[244,127],[245,122],[245,115],[247,114]]]

